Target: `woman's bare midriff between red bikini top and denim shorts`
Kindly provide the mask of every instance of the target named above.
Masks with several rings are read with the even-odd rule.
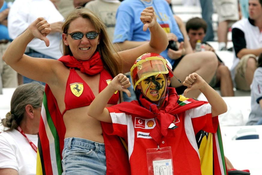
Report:
[[[79,137],[104,143],[101,122],[86,114],[88,107],[84,106],[65,112],[63,116],[66,128],[65,138]]]

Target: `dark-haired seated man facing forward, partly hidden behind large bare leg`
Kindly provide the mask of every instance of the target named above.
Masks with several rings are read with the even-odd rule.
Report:
[[[200,40],[202,42],[203,51],[215,52],[212,46],[208,45],[206,42],[203,42],[203,39],[206,35],[206,30],[207,30],[206,21],[199,17],[191,18],[186,23],[186,31],[191,47],[194,50],[196,50],[196,43],[198,40]],[[213,77],[209,85],[211,87],[220,87],[222,97],[232,97],[234,96],[234,91],[233,91],[233,81],[231,79],[230,71],[218,56],[217,59],[218,59],[218,68],[215,76]]]

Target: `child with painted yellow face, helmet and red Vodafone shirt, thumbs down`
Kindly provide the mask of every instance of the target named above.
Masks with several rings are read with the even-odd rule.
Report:
[[[188,87],[184,95],[199,89],[209,103],[178,96],[175,88],[168,87],[172,76],[166,59],[155,53],[144,54],[131,68],[138,101],[106,107],[116,91],[130,94],[126,89],[129,79],[119,74],[89,106],[88,115],[113,123],[108,134],[128,143],[131,174],[201,174],[195,134],[200,130],[215,133],[215,116],[226,112],[227,105],[197,73],[183,82]]]

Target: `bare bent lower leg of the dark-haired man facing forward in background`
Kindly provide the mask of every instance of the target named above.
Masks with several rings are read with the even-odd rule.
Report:
[[[233,81],[227,66],[221,64],[216,72],[217,80],[220,81],[220,92],[222,97],[233,97]]]

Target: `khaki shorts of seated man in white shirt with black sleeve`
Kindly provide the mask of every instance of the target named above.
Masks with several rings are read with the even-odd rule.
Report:
[[[246,67],[247,67],[247,61],[249,57],[256,58],[254,54],[246,54],[244,55],[238,65],[235,69],[235,83],[236,88],[243,90],[243,91],[250,91],[250,87],[248,86],[246,80],[245,80],[245,73],[246,73]]]

